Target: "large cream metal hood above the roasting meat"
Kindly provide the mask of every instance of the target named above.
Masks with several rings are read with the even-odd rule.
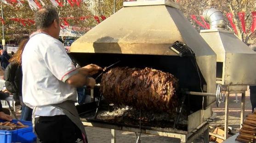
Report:
[[[70,53],[177,55],[170,45],[187,44],[196,56],[213,50],[177,9],[166,0],[124,2],[124,7],[77,39]]]

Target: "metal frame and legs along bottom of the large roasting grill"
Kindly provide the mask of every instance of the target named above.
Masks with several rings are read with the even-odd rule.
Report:
[[[204,122],[195,132],[192,132],[191,134],[181,134],[181,133],[175,133],[175,132],[160,132],[155,131],[152,129],[139,129],[136,127],[127,127],[127,126],[118,126],[113,124],[107,124],[107,123],[100,123],[100,122],[82,122],[84,126],[91,126],[91,127],[102,127],[102,128],[108,128],[111,129],[111,143],[115,143],[115,130],[121,130],[121,131],[127,131],[127,132],[141,132],[145,134],[150,135],[157,135],[157,136],[163,136],[163,137],[170,137],[170,138],[179,138],[181,140],[181,143],[192,143],[196,138],[199,138],[199,136],[204,133],[205,143],[209,143],[209,123]],[[137,134],[138,135],[138,134]]]

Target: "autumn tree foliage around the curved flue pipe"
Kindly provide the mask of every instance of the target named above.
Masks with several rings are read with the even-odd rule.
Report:
[[[188,19],[190,19],[190,15],[202,15],[203,11],[210,7],[222,11],[224,14],[232,13],[233,23],[238,31],[237,37],[246,44],[249,39],[254,42],[256,40],[254,37],[256,32],[243,32],[238,16],[238,12],[245,11],[246,29],[249,30],[252,22],[251,11],[256,11],[255,0],[179,0],[179,5]],[[224,17],[226,16],[224,15]],[[228,20],[226,19],[226,21]],[[227,29],[233,31],[229,22],[227,22]]]

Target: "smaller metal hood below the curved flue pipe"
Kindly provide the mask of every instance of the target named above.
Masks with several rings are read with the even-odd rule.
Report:
[[[233,32],[222,29],[201,30],[200,35],[217,54],[217,83],[256,84],[256,53]]]

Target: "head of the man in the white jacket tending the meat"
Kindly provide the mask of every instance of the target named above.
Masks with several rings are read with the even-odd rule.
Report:
[[[47,32],[52,37],[58,39],[60,33],[60,22],[58,12],[54,7],[43,7],[35,13],[34,19],[37,31]]]

